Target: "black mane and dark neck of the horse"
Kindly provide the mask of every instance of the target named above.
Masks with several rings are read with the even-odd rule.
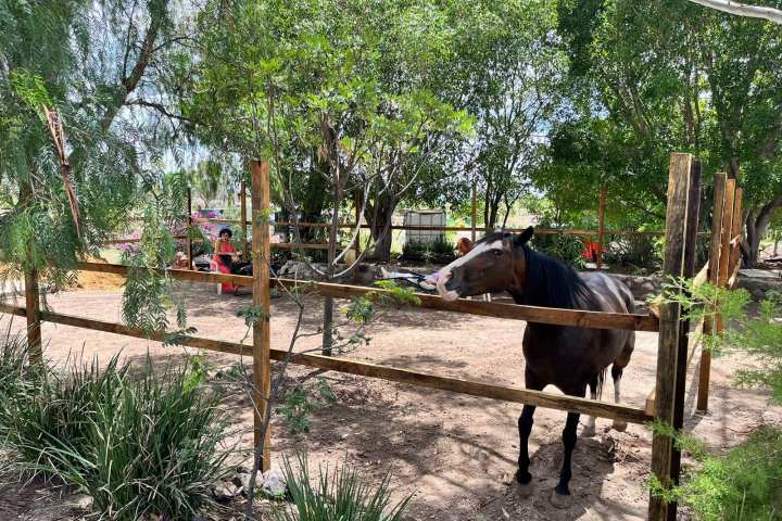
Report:
[[[484,236],[477,244],[514,237],[514,233],[497,231]],[[527,263],[527,280],[522,291],[510,291],[518,304],[569,309],[594,308],[594,293],[570,266],[535,252],[527,243],[516,246],[516,251],[519,250]]]

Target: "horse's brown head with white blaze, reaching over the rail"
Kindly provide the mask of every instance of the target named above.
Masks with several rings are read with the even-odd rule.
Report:
[[[437,289],[446,301],[518,288],[525,280],[522,245],[532,237],[530,226],[522,233],[491,233],[472,250],[438,272]]]

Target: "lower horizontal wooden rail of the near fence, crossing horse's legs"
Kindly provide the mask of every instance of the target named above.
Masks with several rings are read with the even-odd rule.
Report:
[[[16,314],[16,312],[20,312],[22,315],[24,315],[25,309],[23,307],[15,307],[14,313]],[[157,342],[162,342],[166,338],[165,333],[160,331],[147,332],[142,329],[131,328],[129,326],[124,326],[121,323],[106,322],[103,320],[93,320],[90,318],[76,317],[73,315],[65,315],[60,313],[41,312],[41,319],[48,322],[60,323],[63,326],[84,328],[92,331],[103,331],[106,333],[123,334],[126,336],[135,336],[138,339],[150,339]],[[179,339],[179,341],[181,345],[195,347],[199,350],[215,351],[218,353],[228,353],[232,355],[252,355],[251,345],[244,345],[235,342],[225,342],[220,340],[212,340],[198,336],[186,336]],[[274,360],[282,360],[286,356],[287,352],[285,351],[270,351],[270,357]],[[542,391],[530,391],[519,387],[471,382],[467,380],[459,380],[456,378],[440,377],[437,374],[411,371],[407,369],[398,369],[389,366],[380,366],[376,364],[366,364],[363,361],[349,360],[345,358],[298,353],[294,354],[291,358],[291,364],[313,367],[316,369],[337,371],[348,374],[357,374],[361,377],[377,378],[390,382],[408,383],[420,387],[437,389],[439,391],[450,391],[453,393],[467,394],[470,396],[492,398],[503,402],[513,402],[518,404],[537,405],[539,407],[565,410],[568,412],[580,412],[582,415],[627,421],[629,423],[645,423],[652,420],[652,417],[644,412],[643,409],[635,407],[609,404],[606,402],[585,399],[567,395],[544,393]]]

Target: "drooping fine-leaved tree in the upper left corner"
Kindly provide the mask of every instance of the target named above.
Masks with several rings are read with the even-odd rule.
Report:
[[[148,77],[175,39],[163,0],[0,2],[3,278],[24,271],[29,283],[38,270],[66,284],[74,263],[126,225],[162,153],[138,139],[154,111],[127,107],[153,92]]]

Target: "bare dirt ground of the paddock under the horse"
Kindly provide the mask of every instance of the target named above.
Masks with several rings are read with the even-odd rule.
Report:
[[[190,323],[198,335],[227,341],[244,336],[243,320],[236,312],[249,296],[217,296],[213,285],[181,285]],[[50,304],[61,313],[121,321],[118,291],[73,291],[51,295]],[[320,301],[307,297],[304,329],[316,331]],[[342,301],[343,303],[345,301]],[[285,298],[273,301],[272,341],[287,348],[294,326],[294,308]],[[4,327],[8,317],[0,318]],[[18,320],[18,326],[22,321]],[[525,322],[427,309],[395,310],[369,331],[368,346],[351,358],[399,368],[438,373],[503,385],[522,385],[521,336]],[[123,356],[156,363],[179,359],[185,350],[163,347],[126,336],[46,323],[46,355],[63,364],[68,356],[93,354],[102,360],[122,350]],[[657,334],[638,333],[635,353],[626,369],[622,401],[643,406],[654,383]],[[300,341],[298,350],[318,345],[317,335]],[[187,350],[192,353],[193,350]],[[237,361],[230,355],[207,354],[217,367]],[[249,360],[248,360],[249,361]],[[735,390],[729,385],[737,360],[720,358],[714,364],[710,410],[692,416],[686,427],[714,449],[724,449],[744,440],[764,421],[764,412],[782,415],[769,406],[766,393]],[[697,371],[693,364],[689,381]],[[518,455],[517,418],[521,406],[487,398],[439,392],[381,380],[291,367],[287,385],[325,378],[338,402],[317,409],[311,432],[291,435],[282,420],[273,424],[274,457],[306,449],[313,468],[348,461],[358,466],[371,481],[392,475],[396,496],[415,494],[408,520],[641,520],[645,519],[648,494],[651,435],[640,425],[627,432],[610,430],[597,420],[597,434],[580,437],[573,456],[572,505],[558,510],[548,496],[562,465],[560,432],[565,412],[539,408],[530,440],[535,494],[517,497],[510,486]],[[552,387],[548,391],[554,391]],[[554,391],[555,392],[555,391]],[[613,396],[610,382],[605,397]],[[695,390],[688,390],[688,406],[694,408]],[[236,401],[230,414],[237,423],[252,425],[247,402]],[[582,417],[582,423],[584,418]],[[249,439],[248,439],[249,440]],[[28,487],[29,488],[29,487]],[[22,494],[22,495],[20,495]],[[41,490],[5,486],[0,490],[0,519],[51,521],[80,519],[78,513],[54,514],[51,501],[78,498],[27,500]],[[47,507],[49,506],[49,507]],[[686,518],[686,513],[682,514]]]

